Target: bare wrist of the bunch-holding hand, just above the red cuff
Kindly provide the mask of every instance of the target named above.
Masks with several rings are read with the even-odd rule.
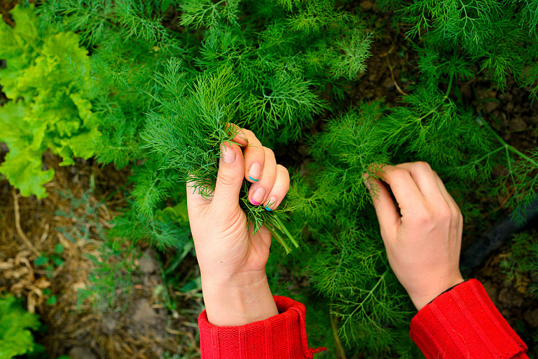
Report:
[[[202,275],[207,320],[218,327],[265,320],[278,314],[267,276],[215,280]]]

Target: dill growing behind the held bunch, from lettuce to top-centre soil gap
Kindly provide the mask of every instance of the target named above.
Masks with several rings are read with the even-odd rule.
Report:
[[[176,11],[181,11],[179,23],[170,21]],[[345,86],[364,71],[371,42],[359,16],[330,0],[41,0],[39,13],[42,27],[77,32],[90,48],[98,89],[97,161],[130,165],[134,173],[131,209],[118,219],[122,224],[115,235],[150,235],[157,245],[174,243],[170,234],[181,231],[160,212],[184,201],[186,180],[170,156],[177,154],[170,150],[177,144],[163,142],[165,134],[157,130],[163,104],[177,101],[181,90],[159,80],[171,57],[181,60],[174,72],[183,74],[181,83],[193,90],[192,98],[200,90],[196,86],[207,83],[201,79],[219,79],[232,69],[229,106],[237,111],[235,122],[254,130],[265,144],[284,144],[298,140],[315,116],[338,104]],[[199,114],[209,115],[205,111]],[[230,140],[219,136],[210,138]],[[199,165],[216,158],[209,161],[214,149],[199,155],[181,161]],[[269,217],[244,209],[256,227],[261,217]],[[175,241],[179,248],[184,244]]]

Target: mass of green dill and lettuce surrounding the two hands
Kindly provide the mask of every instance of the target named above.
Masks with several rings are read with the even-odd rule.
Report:
[[[11,172],[1,172],[12,182],[25,178],[27,189],[17,184],[23,194],[43,196],[53,175],[42,170],[46,148],[62,155],[64,164],[93,153],[99,163],[132,170],[130,204],[93,258],[97,270],[81,298],[93,297],[103,308],[123,305],[128,296],[118,292],[132,283],[138,241],[175,248],[170,268],[179,266],[192,249],[185,184],[192,181],[202,195],[211,194],[219,146],[235,135],[228,123],[246,126],[275,147],[301,140],[303,130],[322,119],[323,131],[307,140],[310,165],[292,181],[289,231],[281,213],[250,205],[246,183],[242,189],[240,205],[249,221],[255,228],[270,226],[275,241],[284,244],[273,246],[271,286],[315,313],[308,317],[312,342],[335,346],[336,333],[350,353],[417,358],[407,333],[413,307],[389,269],[362,176],[373,175],[375,164],[427,161],[466,220],[481,219],[484,210],[463,198],[513,191],[509,208],[534,198],[537,152],[506,144],[458,91],[462,81],[490,81],[504,90],[513,76],[531,99],[537,97],[538,2],[376,1],[395,26],[406,29],[407,47],[418,54],[416,85],[387,108],[382,100],[349,106],[349,89],[366,70],[373,33],[358,8],[341,5],[41,0],[39,20],[17,8],[15,29],[0,25],[0,34],[13,34],[0,36],[0,57],[8,59],[0,83],[13,98],[0,110],[0,125],[25,123],[0,134],[11,149],[6,163],[13,163]],[[89,60],[76,36],[90,48]],[[49,62],[57,67],[49,71]],[[44,81],[40,87],[37,80]],[[57,88],[62,90],[55,93]],[[78,147],[82,139],[74,140],[79,133],[88,136],[88,152]],[[506,175],[493,176],[494,169]],[[85,220],[76,215],[73,228],[62,233],[88,240],[90,233],[79,225]],[[284,255],[289,248],[282,237],[291,233],[302,245]],[[197,290],[198,284],[195,278],[181,287]],[[335,348],[329,353],[336,355]]]

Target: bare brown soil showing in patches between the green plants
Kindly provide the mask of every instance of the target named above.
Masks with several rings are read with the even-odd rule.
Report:
[[[6,10],[14,2],[0,0],[1,13],[8,23],[11,19],[6,16]],[[366,72],[359,74],[357,81],[347,88],[346,105],[383,97],[391,106],[413,85],[409,79],[418,72],[416,54],[403,45],[406,29],[400,28],[398,32],[392,29],[389,15],[380,13],[371,1],[359,3],[372,15],[371,28],[375,29],[376,36],[371,46],[372,56],[366,60]],[[171,18],[177,20],[177,13]],[[174,26],[177,27],[177,23]],[[480,111],[508,144],[523,153],[538,147],[538,103],[530,101],[528,91],[519,88],[513,79],[509,79],[504,90],[491,88],[490,82],[483,79],[455,83],[454,87],[460,89],[462,100]],[[0,91],[0,105],[4,102],[6,97]],[[305,137],[323,130],[321,118],[305,129]],[[0,163],[6,150],[5,146],[0,147]],[[275,154],[288,168],[301,169],[308,163],[304,140],[294,146],[277,147]],[[201,299],[199,292],[173,291],[163,282],[161,268],[169,264],[173,257],[171,251],[157,252],[142,245],[134,259],[137,267],[133,272],[133,290],[124,297],[127,305],[121,311],[97,311],[90,302],[78,303],[78,290],[88,285],[88,274],[95,269],[90,255],[99,256],[97,249],[104,243],[102,230],[109,228],[110,220],[127,203],[122,187],[129,173],[82,160],[71,168],[60,168],[60,159],[48,153],[43,163],[56,171],[53,182],[46,185],[47,198],[20,198],[6,180],[0,181],[0,292],[25,298],[27,309],[39,314],[47,330],[37,341],[46,347],[52,358],[63,354],[73,359],[162,358],[164,353],[187,352],[195,358],[199,351],[195,317],[200,311]],[[74,226],[76,218],[84,215],[84,208],[73,210],[72,201],[60,191],[81,198],[88,193],[92,177],[95,189],[87,201],[95,206],[95,215],[88,219],[85,236],[71,241],[61,229]],[[507,199],[502,195],[479,199],[485,206],[486,224],[492,225],[498,219],[486,217],[491,208],[502,208]],[[469,198],[469,201],[477,201],[477,198]],[[59,212],[71,213],[71,217],[58,215]],[[499,217],[504,214],[499,212]],[[20,218],[17,220],[17,217]],[[534,228],[537,225],[534,224]],[[472,233],[477,229],[467,224],[465,231]],[[29,239],[34,249],[23,237]],[[470,236],[467,241],[472,239]],[[34,264],[38,257],[36,252],[54,253],[59,243],[64,248],[61,255],[64,263],[53,273]],[[483,268],[471,276],[481,280],[503,316],[533,347],[530,334],[538,328],[538,301],[524,284],[506,282],[501,263],[508,250],[507,246],[497,250]],[[179,276],[188,277],[193,276],[195,270],[195,259],[188,257],[177,271]],[[530,278],[523,276],[521,281],[528,283]],[[167,289],[170,301],[177,303],[178,310],[167,305],[162,294],[158,294],[156,288],[160,287]],[[47,291],[50,294],[46,294]],[[57,304],[47,303],[52,295],[56,296]]]

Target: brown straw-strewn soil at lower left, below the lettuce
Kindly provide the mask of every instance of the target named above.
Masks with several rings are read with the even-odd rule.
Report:
[[[0,161],[3,156],[0,151]],[[56,171],[53,182],[46,185],[48,197],[38,200],[17,196],[16,200],[20,229],[34,249],[16,229],[15,191],[6,180],[0,181],[0,292],[25,298],[27,309],[39,314],[47,331],[36,341],[53,358],[162,358],[165,352],[196,353],[195,312],[200,308],[200,298],[195,293],[172,292],[171,300],[180,309],[193,309],[188,314],[179,309],[172,316],[162,294],[156,292],[157,287],[163,287],[163,280],[158,255],[153,250],[135,258],[134,285],[128,294],[129,305],[123,311],[97,311],[91,302],[78,304],[78,290],[89,284],[88,274],[95,268],[88,257],[99,256],[98,249],[103,245],[98,227],[109,228],[109,221],[126,204],[118,189],[125,184],[128,172],[83,160],[71,168],[60,168],[60,158],[50,154],[44,156],[43,163]],[[61,229],[74,226],[77,216],[87,214],[83,207],[71,208],[71,201],[59,191],[71,191],[75,198],[81,198],[90,188],[92,176],[95,190],[88,203],[97,208],[96,215],[85,222],[88,234],[70,241]],[[107,198],[104,203],[102,198]],[[72,217],[57,215],[62,211],[72,212]],[[58,243],[64,248],[61,266],[51,273],[34,264],[37,253],[50,255]],[[47,290],[50,294],[46,294]],[[57,297],[57,303],[50,305],[47,299],[52,295]]]

